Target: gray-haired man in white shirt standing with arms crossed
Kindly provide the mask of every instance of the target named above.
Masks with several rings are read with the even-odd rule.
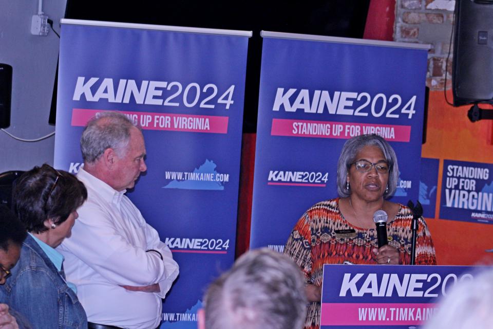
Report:
[[[124,195],[147,169],[142,132],[123,114],[100,113],[87,123],[81,150],[77,178],[88,197],[59,247],[67,279],[77,286],[89,328],[155,328],[178,264]]]

